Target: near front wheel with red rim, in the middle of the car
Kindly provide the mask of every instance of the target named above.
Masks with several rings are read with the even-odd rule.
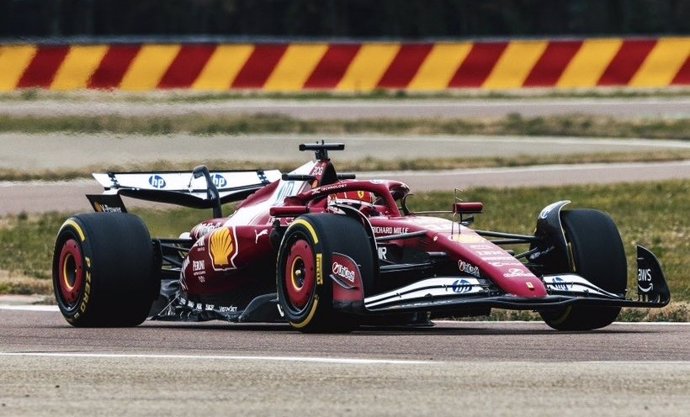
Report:
[[[276,269],[278,300],[290,325],[299,331],[347,332],[353,316],[334,309],[333,254],[352,259],[365,283],[372,279],[374,257],[368,236],[357,221],[335,214],[307,214],[283,236]],[[337,285],[337,284],[336,284]]]

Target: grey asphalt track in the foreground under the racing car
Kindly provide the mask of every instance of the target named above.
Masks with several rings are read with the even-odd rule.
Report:
[[[0,415],[684,416],[690,407],[683,324],[561,333],[441,322],[304,335],[216,322],[76,329],[43,309],[0,308]]]

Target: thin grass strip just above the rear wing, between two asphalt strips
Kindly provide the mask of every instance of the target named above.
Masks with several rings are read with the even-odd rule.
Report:
[[[468,168],[496,168],[519,167],[549,164],[586,164],[586,163],[624,163],[624,162],[662,162],[683,161],[690,159],[690,150],[659,150],[647,153],[616,152],[616,153],[583,153],[571,155],[520,155],[515,157],[488,158],[418,158],[418,159],[377,159],[363,158],[359,160],[341,160],[338,169],[342,172],[364,171],[405,171],[405,170],[445,170]],[[233,169],[279,169],[290,172],[303,162],[295,161],[230,161],[210,160],[204,162],[213,170]],[[170,162],[155,161],[147,164],[128,165],[93,165],[77,169],[58,170],[17,170],[0,168],[0,181],[59,181],[87,178],[92,172],[124,172],[124,171],[188,171],[198,165],[198,161]]]

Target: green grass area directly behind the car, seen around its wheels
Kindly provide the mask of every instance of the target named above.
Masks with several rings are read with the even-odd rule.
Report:
[[[481,229],[530,234],[540,209],[547,204],[571,199],[571,207],[594,207],[611,214],[628,252],[629,288],[635,288],[634,245],[642,244],[661,259],[675,301],[690,301],[690,206],[689,181],[643,184],[582,185],[559,188],[467,190],[465,200],[483,201],[485,213],[475,226]],[[422,193],[409,199],[415,210],[449,209],[451,193]],[[175,237],[209,216],[206,211],[175,209],[141,210],[139,214],[160,237]],[[11,216],[0,219],[0,270],[12,277],[35,280],[50,278],[52,245],[66,215]],[[0,279],[0,293],[26,292]],[[631,313],[632,314],[632,313]],[[675,314],[675,313],[673,313]],[[670,314],[670,316],[673,316]]]

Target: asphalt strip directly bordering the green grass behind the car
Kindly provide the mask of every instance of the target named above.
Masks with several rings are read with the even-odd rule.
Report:
[[[572,184],[611,184],[636,181],[690,179],[690,161],[546,165],[520,168],[458,169],[448,171],[362,172],[360,179],[396,179],[413,191],[452,191],[473,187],[557,187]],[[0,216],[49,211],[91,211],[85,195],[103,189],[95,180],[0,181]],[[123,198],[126,207],[162,207]]]

